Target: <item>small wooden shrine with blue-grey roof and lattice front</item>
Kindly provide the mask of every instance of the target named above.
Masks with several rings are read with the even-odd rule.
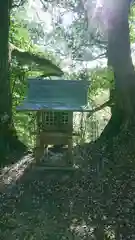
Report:
[[[72,163],[73,112],[87,112],[89,82],[84,80],[28,80],[27,97],[18,111],[36,112],[36,159],[46,145],[68,145]]]

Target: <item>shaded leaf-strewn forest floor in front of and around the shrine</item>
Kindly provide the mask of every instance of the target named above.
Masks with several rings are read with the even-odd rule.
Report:
[[[76,158],[81,171],[45,171],[30,154],[1,168],[0,239],[92,239],[100,224],[106,239],[115,239],[116,225],[123,239],[135,239],[135,167],[126,150],[134,154],[131,143],[118,139],[114,149],[112,143],[86,144]]]

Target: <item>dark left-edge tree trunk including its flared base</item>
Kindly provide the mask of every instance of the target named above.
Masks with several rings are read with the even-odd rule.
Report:
[[[17,136],[12,124],[12,95],[9,71],[9,0],[0,0],[0,153],[2,161],[7,151],[15,149]],[[20,146],[20,144],[19,144]],[[24,145],[22,145],[24,147]]]

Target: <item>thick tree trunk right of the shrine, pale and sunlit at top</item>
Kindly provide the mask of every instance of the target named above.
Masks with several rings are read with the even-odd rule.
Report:
[[[133,123],[135,115],[135,73],[130,50],[129,2],[113,0],[111,14],[107,19],[108,64],[113,69],[115,81],[115,104],[111,109],[112,117],[102,134],[107,137],[117,135],[123,124],[131,123],[131,120]]]

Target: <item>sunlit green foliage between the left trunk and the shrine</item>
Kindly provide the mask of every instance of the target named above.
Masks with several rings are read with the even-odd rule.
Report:
[[[15,46],[26,51],[39,53],[39,50],[31,42],[28,30],[23,27],[15,17],[11,17],[10,24],[10,42]],[[17,113],[16,106],[22,102],[26,96],[27,78],[29,76],[40,75],[41,72],[33,72],[29,66],[20,65],[16,59],[11,63],[11,89],[13,96],[13,119],[18,135],[26,145],[33,146],[34,137],[31,132],[34,130],[33,115],[26,113]]]

